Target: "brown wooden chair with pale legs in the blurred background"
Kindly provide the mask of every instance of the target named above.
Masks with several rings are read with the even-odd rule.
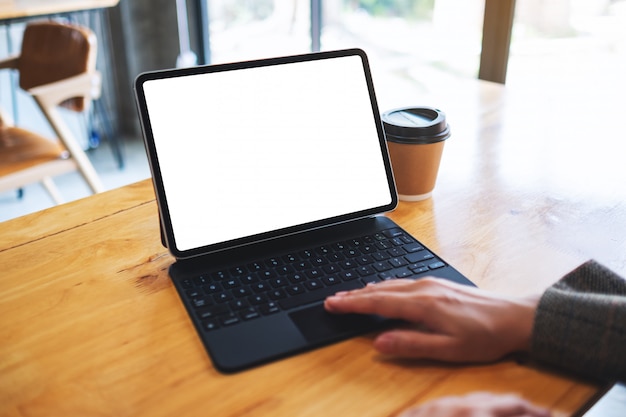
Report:
[[[52,21],[30,23],[18,56],[0,60],[0,69],[19,73],[19,86],[38,104],[57,140],[13,126],[0,114],[0,191],[42,182],[58,204],[51,177],[78,170],[92,192],[104,187],[89,158],[59,113],[59,107],[86,111],[100,96],[95,69],[96,37],[85,27]]]

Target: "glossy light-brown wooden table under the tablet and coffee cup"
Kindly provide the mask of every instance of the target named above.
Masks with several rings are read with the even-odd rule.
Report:
[[[626,273],[622,119],[590,126],[612,110],[544,94],[544,112],[537,92],[425,82],[379,88],[383,110],[432,104],[453,130],[432,199],[390,217],[502,293],[541,291],[588,258]],[[597,390],[512,360],[391,360],[371,336],[222,375],[168,278],[172,261],[148,181],[0,223],[0,415],[394,416],[488,390],[564,416]]]

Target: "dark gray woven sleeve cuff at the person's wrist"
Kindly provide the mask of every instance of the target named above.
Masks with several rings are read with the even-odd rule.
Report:
[[[530,355],[570,372],[626,380],[626,280],[589,261],[541,297]]]

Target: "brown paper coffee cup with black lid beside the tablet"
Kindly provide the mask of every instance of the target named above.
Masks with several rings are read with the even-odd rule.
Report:
[[[420,201],[431,196],[445,140],[446,115],[432,107],[408,107],[382,115],[398,198]]]

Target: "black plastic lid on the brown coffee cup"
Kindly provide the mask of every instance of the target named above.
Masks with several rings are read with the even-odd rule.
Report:
[[[390,142],[435,143],[450,137],[446,115],[433,107],[405,107],[382,115],[385,135]]]

